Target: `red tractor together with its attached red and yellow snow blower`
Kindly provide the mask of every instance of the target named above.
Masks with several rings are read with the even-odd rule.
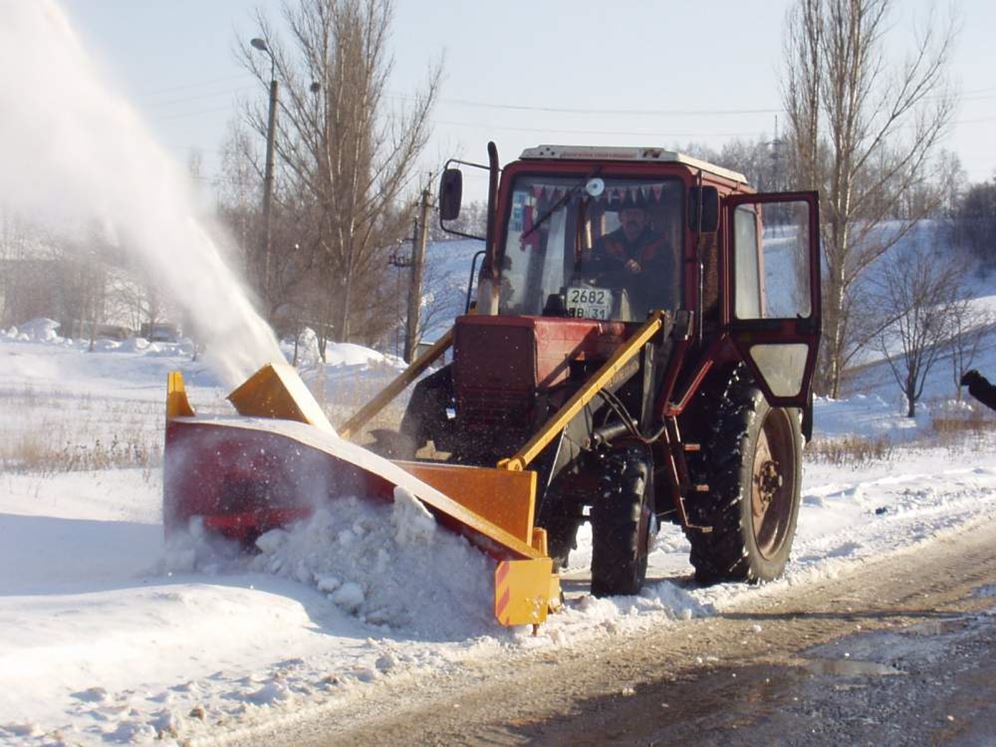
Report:
[[[662,521],[702,582],[777,577],[812,432],[816,194],[756,194],[653,148],[543,146],[504,168],[488,150],[474,312],[338,435],[285,364],[232,392],[236,418],[198,417],[170,375],[167,533],[196,521],[252,545],[324,501],[402,488],[495,562],[503,625],[559,606],[585,521],[597,595],[639,592]],[[444,222],[461,185],[447,168]],[[450,346],[399,432],[373,432],[394,461],[349,443]]]

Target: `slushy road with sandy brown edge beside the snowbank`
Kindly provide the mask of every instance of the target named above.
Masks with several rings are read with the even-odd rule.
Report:
[[[275,741],[996,745],[996,525],[715,617],[511,658]]]

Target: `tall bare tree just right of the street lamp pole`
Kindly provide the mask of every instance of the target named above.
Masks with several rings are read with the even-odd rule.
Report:
[[[376,311],[389,294],[380,281],[390,247],[408,230],[416,160],[441,75],[441,65],[430,69],[407,107],[388,104],[392,16],[391,0],[299,0],[284,6],[289,45],[257,17],[281,85],[277,205],[298,232],[294,272],[278,269],[277,287],[261,295],[271,299],[273,316],[302,277],[317,282],[324,297],[309,311],[323,354],[329,334],[371,338],[391,324]],[[269,60],[248,45],[240,53],[268,87]],[[265,133],[262,105],[249,106],[247,118]],[[287,268],[286,253],[274,259]]]

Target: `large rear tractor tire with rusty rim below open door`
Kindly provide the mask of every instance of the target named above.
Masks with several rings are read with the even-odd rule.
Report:
[[[796,410],[771,407],[743,367],[701,412],[713,417],[694,477],[709,492],[690,502],[695,579],[771,581],[792,549],[802,483],[802,429]]]

